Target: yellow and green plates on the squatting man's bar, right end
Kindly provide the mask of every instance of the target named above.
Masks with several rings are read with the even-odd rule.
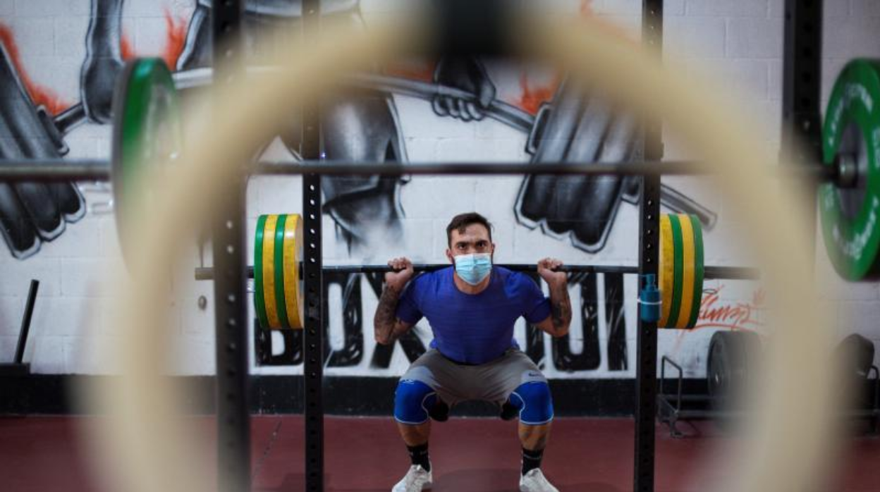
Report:
[[[660,216],[658,327],[693,328],[703,292],[703,233],[696,216]]]

